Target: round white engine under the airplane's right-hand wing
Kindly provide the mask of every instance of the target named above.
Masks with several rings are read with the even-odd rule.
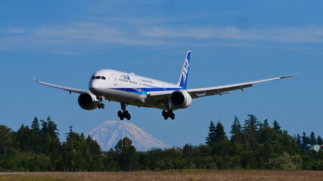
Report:
[[[192,104],[192,97],[184,90],[174,91],[170,96],[171,105],[174,108],[187,108]]]

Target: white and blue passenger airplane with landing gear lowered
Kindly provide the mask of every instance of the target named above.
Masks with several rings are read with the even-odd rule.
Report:
[[[232,93],[230,91],[236,89],[244,91],[244,88],[251,87],[255,83],[283,79],[298,74],[230,85],[187,89],[190,57],[191,51],[187,51],[177,84],[112,69],[101,69],[94,72],[89,81],[89,90],[65,87],[33,79],[40,84],[68,91],[70,94],[80,94],[78,104],[84,110],[104,109],[103,100],[107,100],[121,104],[122,111],[118,111],[120,120],[131,119],[131,115],[126,110],[128,105],[157,108],[163,110],[161,115],[165,120],[168,118],[174,120],[174,111],[189,107],[192,104],[192,99],[212,95],[222,96],[223,94],[230,94]]]

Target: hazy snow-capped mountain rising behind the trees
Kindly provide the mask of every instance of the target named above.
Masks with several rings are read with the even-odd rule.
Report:
[[[168,145],[152,137],[151,134],[127,121],[104,121],[89,133],[101,146],[102,151],[115,147],[120,138],[128,137],[138,151],[150,148],[165,148]]]

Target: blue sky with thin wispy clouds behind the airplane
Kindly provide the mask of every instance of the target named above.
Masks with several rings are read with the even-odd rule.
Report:
[[[322,133],[322,1],[2,1],[0,124],[17,130],[48,115],[61,138],[118,120],[118,103],[78,107],[77,94],[32,81],[86,89],[91,74],[111,68],[176,82],[192,50],[188,88],[292,73],[234,94],[193,100],[176,119],[128,107],[131,122],[168,145],[203,143],[210,121],[247,114],[277,120],[290,134]]]

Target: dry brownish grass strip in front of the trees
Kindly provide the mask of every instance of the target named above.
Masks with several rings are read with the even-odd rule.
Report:
[[[171,170],[122,172],[1,172],[0,180],[323,180],[323,171]]]

